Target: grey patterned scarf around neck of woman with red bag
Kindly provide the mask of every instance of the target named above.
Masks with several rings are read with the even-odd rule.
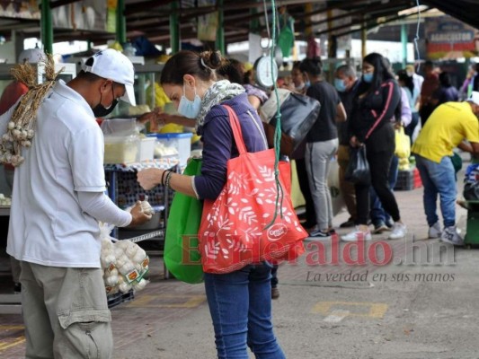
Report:
[[[200,130],[200,127],[203,127],[205,124],[206,115],[213,106],[223,101],[233,99],[243,92],[244,87],[241,84],[230,83],[227,80],[213,83],[205,93],[203,100],[201,100],[200,114],[196,118],[197,132]]]

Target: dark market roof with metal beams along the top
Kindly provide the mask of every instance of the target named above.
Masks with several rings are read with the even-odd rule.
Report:
[[[127,38],[145,36],[156,44],[168,45],[171,35],[170,15],[175,1],[177,0],[124,0]],[[206,5],[198,6],[199,1],[201,0],[182,0],[182,7],[177,10],[182,39],[196,39],[199,17],[218,10],[219,1],[202,0]],[[78,0],[56,0],[50,1],[49,4],[56,8],[61,5],[65,9],[67,7],[73,9],[74,6],[87,2],[92,3],[92,6],[100,4],[94,0],[83,0],[83,3],[79,3]],[[31,14],[31,18],[14,18],[13,13],[17,10],[14,6],[16,3],[14,1],[6,7],[0,6],[0,35],[8,39],[11,31],[15,30],[20,31],[25,37],[40,37],[39,17],[35,17],[34,12],[29,11],[27,13]],[[222,3],[226,43],[247,40],[252,27],[266,35],[262,1],[223,0]],[[419,3],[428,5],[430,8],[436,7],[444,13],[479,28],[479,17],[475,12],[476,0],[420,0]],[[308,25],[313,26],[316,36],[331,31],[339,36],[359,31],[361,28],[372,29],[388,22],[402,21],[414,14],[400,14],[400,12],[416,6],[417,2],[416,0],[282,0],[277,1],[276,4],[280,12],[286,10],[294,18],[297,39],[306,39]],[[306,6],[306,4],[311,5]],[[266,7],[271,19],[271,1],[267,2]],[[68,16],[60,18],[60,22],[54,29],[55,41],[89,39],[94,43],[104,43],[108,39],[115,39],[114,32],[88,28],[88,21],[92,20],[89,15],[91,14],[85,14],[83,30],[80,30],[78,23],[75,23],[76,29],[75,26],[73,29],[69,27],[71,24],[67,23]],[[106,16],[106,14],[103,15]],[[309,19],[312,21],[309,22]]]

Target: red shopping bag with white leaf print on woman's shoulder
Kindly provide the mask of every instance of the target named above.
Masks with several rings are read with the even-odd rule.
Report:
[[[227,162],[226,185],[217,199],[203,205],[199,231],[203,270],[229,273],[262,260],[293,260],[305,252],[307,233],[291,203],[289,163],[279,163],[278,188],[274,149],[246,152],[235,111],[224,107],[239,156]]]

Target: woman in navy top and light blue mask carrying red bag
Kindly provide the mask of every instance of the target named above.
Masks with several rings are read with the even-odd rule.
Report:
[[[248,102],[243,86],[226,80],[216,82],[215,69],[221,65],[222,58],[217,52],[199,55],[191,51],[180,51],[165,64],[161,75],[164,92],[182,116],[196,118],[197,131],[202,136],[201,175],[144,170],[138,173],[143,188],[164,184],[211,205],[224,194],[227,162],[235,160],[244,146],[248,154],[267,149],[261,120]],[[239,124],[235,131],[243,134],[244,146],[239,151],[230,123],[230,109]],[[230,209],[233,211],[234,207]],[[203,244],[200,240],[200,247]],[[204,253],[201,254],[203,257]],[[272,329],[269,262],[247,264],[224,274],[208,272],[204,261],[203,268],[217,357],[247,359],[249,346],[256,358],[285,358]]]

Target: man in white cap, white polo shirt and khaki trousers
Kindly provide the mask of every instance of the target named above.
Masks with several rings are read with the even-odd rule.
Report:
[[[118,99],[135,104],[133,82],[129,59],[107,49],[40,101],[35,136],[15,170],[7,244],[22,265],[27,358],[111,357],[98,221],[123,227],[151,215],[138,204],[123,211],[104,194],[104,144],[95,118]],[[15,108],[0,117],[0,136],[18,118]]]

